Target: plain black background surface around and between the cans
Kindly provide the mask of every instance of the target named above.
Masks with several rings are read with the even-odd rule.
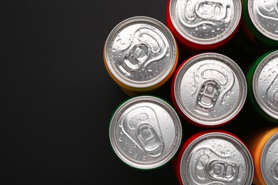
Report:
[[[140,171],[116,157],[108,126],[128,96],[105,70],[110,31],[132,16],[165,23],[167,1],[2,1],[0,184],[177,184],[171,164]],[[264,51],[238,31],[219,53],[242,70]],[[180,50],[180,63],[190,53]],[[169,84],[156,95],[170,101]],[[182,120],[182,119],[181,119]],[[247,103],[221,127],[271,125]],[[200,128],[182,120],[184,138]]]

